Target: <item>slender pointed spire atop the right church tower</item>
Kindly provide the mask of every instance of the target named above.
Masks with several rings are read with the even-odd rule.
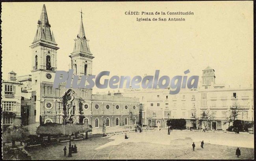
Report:
[[[89,45],[87,44],[87,39],[85,37],[85,32],[83,28],[82,11],[81,11],[81,22],[80,22],[79,31],[77,34],[77,38],[74,40],[75,40],[75,44],[74,44],[73,53],[81,52],[81,51],[86,53],[91,53],[89,49]]]

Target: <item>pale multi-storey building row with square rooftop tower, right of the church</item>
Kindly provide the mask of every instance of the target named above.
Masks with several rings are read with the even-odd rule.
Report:
[[[215,84],[215,71],[202,70],[198,89],[181,89],[170,95],[170,89],[127,89],[126,97],[140,99],[143,124],[166,127],[168,119],[186,119],[187,127],[226,130],[235,119],[254,121],[254,90],[252,86],[230,88]],[[169,114],[169,115],[168,115]],[[230,121],[230,117],[232,118]]]

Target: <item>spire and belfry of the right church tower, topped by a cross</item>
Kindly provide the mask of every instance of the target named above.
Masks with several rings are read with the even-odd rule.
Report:
[[[91,75],[92,74],[92,59],[93,54],[89,48],[89,40],[85,37],[85,32],[83,28],[83,12],[81,13],[81,22],[78,34],[74,39],[74,49],[69,55],[71,58],[71,69],[74,70],[74,75]]]

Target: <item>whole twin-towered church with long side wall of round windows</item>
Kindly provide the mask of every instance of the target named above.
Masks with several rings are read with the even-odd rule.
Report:
[[[121,95],[95,95],[92,89],[65,88],[60,83],[54,89],[53,82],[57,70],[59,49],[51,32],[51,25],[43,5],[37,31],[30,48],[32,49],[31,101],[37,126],[52,122],[62,124],[91,124],[93,128],[128,126],[139,123],[139,99]],[[74,75],[92,75],[93,54],[85,37],[82,21],[75,38],[74,49],[70,53]],[[34,108],[34,109],[33,109]]]

